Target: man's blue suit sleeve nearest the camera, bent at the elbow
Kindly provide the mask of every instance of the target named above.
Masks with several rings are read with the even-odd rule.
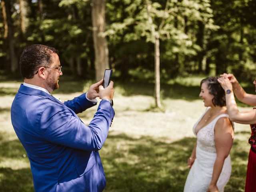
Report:
[[[80,150],[100,150],[114,118],[114,109],[102,100],[94,118],[86,126],[77,116],[61,106],[47,106],[40,118],[42,137],[52,143]]]

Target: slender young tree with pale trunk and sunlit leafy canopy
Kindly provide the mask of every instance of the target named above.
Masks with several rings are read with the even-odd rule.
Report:
[[[146,2],[146,3],[145,3]],[[200,10],[205,10],[202,14]],[[211,28],[212,17],[209,0],[203,1],[177,1],[177,0],[136,0],[130,2],[126,8],[129,18],[123,22],[110,25],[108,34],[114,39],[113,34],[124,34],[124,40],[136,41],[146,38],[147,42],[154,44],[154,73],[155,73],[155,103],[160,103],[160,42],[166,42],[166,53],[169,55],[168,68],[172,70],[179,62],[178,53],[196,54],[196,46],[193,44],[193,32],[188,32],[188,21],[190,23],[202,20],[207,28]],[[125,29],[133,28],[133,32],[125,34]],[[114,31],[114,33],[113,33]],[[192,33],[192,35],[191,35]],[[198,49],[198,48],[197,48]],[[163,58],[163,57],[162,57]],[[170,58],[174,58],[170,60]],[[169,72],[169,71],[168,71]]]

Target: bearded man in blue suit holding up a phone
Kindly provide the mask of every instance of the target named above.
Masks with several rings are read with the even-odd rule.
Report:
[[[99,192],[106,179],[98,150],[114,118],[113,82],[104,89],[101,80],[62,103],[50,95],[59,87],[61,68],[56,49],[37,44],[24,49],[24,83],[12,103],[12,125],[28,154],[36,192]],[[102,100],[86,126],[76,114],[96,105],[96,97]]]

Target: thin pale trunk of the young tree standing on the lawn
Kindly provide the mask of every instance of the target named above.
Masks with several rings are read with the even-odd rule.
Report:
[[[159,34],[156,35],[155,42],[155,102],[158,108],[162,108],[160,102],[160,41]]]

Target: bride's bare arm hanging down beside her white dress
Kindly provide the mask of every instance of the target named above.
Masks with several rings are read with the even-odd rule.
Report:
[[[216,192],[217,181],[222,171],[224,160],[227,158],[233,144],[234,130],[230,120],[227,117],[220,118],[214,128],[214,140],[217,157],[214,162],[212,180],[207,192]]]

